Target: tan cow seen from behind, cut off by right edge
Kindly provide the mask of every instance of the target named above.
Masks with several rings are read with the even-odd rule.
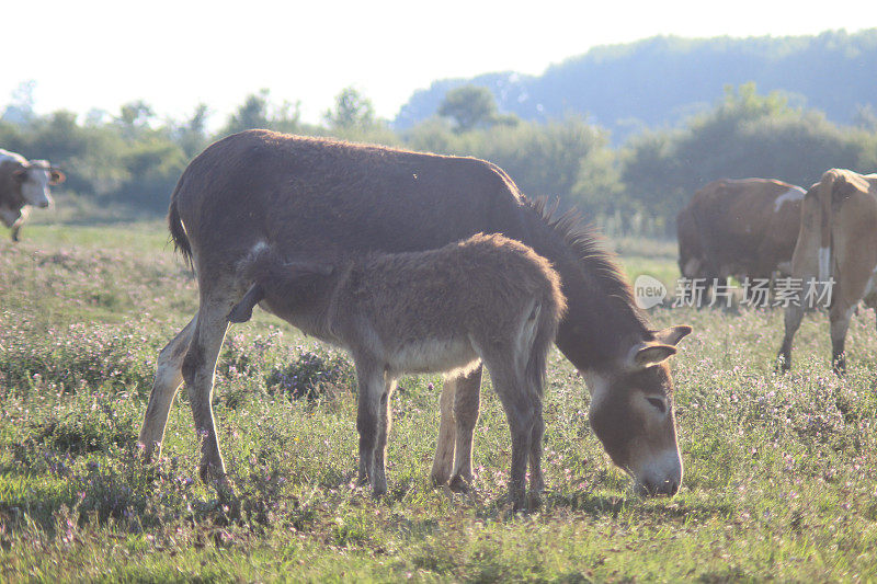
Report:
[[[846,369],[844,344],[850,318],[859,301],[877,306],[877,174],[831,169],[804,198],[800,232],[791,259],[791,275],[800,278],[796,302],[785,308],[786,333],[779,348],[779,367],[791,367],[791,341],[804,311],[813,304],[809,283],[821,298],[830,291],[831,353],[834,373]],[[833,278],[830,290],[825,283]],[[825,299],[828,296],[825,295]]]

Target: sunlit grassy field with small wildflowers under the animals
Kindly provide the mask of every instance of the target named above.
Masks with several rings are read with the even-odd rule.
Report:
[[[673,364],[686,467],[673,499],[634,494],[589,430],[582,381],[553,354],[549,490],[517,516],[489,381],[475,492],[429,483],[441,379],[407,378],[376,502],[353,481],[350,362],[257,311],[218,368],[238,488],[219,501],[196,478],[185,391],[163,458],[136,458],[156,355],[196,308],[163,226],[23,236],[0,242],[0,581],[877,580],[872,311],[851,327],[844,380],[824,314],[806,318],[796,368],[776,377],[779,311],[652,311],[656,327],[695,327]],[[616,243],[631,277],[675,277],[672,245]]]

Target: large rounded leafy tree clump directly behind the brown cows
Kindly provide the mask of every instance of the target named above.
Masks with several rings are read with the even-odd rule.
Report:
[[[778,92],[760,95],[747,83],[727,88],[722,101],[682,128],[629,140],[622,178],[635,207],[673,219],[697,188],[717,179],[808,186],[832,167],[867,171],[868,141],[863,130],[841,129],[821,112],[793,107]]]

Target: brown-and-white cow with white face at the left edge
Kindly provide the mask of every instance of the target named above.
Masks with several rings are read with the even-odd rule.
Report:
[[[12,228],[12,241],[19,240],[21,226],[31,206],[48,207],[49,185],[64,182],[64,173],[48,160],[29,161],[21,154],[0,149],[0,221]]]

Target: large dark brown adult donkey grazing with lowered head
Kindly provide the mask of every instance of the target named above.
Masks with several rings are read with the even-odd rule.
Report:
[[[650,330],[629,285],[593,233],[574,217],[553,218],[527,202],[489,162],[376,146],[287,136],[236,134],[209,146],[183,172],[171,196],[171,236],[193,263],[201,304],[161,351],[139,440],[160,448],[168,414],[185,380],[202,440],[202,476],[225,474],[210,408],[226,316],[247,287],[239,265],[259,242],[281,256],[334,265],[366,251],[441,248],[475,233],[502,233],[534,249],[560,275],[567,313],[557,346],[585,375],[590,419],[613,461],[638,490],[673,494],[682,480],[673,383],[667,358],[688,327]],[[331,302],[317,278],[287,320],[303,330]],[[471,437],[481,368],[451,377],[432,477],[471,479]],[[457,476],[452,477],[455,458]],[[460,479],[459,481],[457,479]]]

